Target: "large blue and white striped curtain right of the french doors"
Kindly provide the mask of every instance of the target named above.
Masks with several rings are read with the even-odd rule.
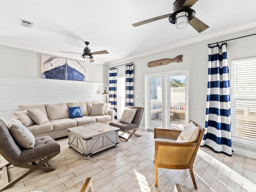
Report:
[[[208,47],[206,121],[201,146],[232,156],[227,44]],[[220,53],[221,52],[221,53]]]

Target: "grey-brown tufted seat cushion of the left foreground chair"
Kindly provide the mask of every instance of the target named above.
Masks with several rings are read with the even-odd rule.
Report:
[[[35,138],[35,141],[33,149],[22,149],[20,157],[18,158],[19,163],[31,162],[31,160],[35,158],[60,151],[60,144],[50,136]]]

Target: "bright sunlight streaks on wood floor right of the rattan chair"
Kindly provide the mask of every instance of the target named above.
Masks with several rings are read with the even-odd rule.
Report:
[[[240,186],[241,190],[242,188],[244,190],[248,190],[248,191],[252,191],[252,190],[256,190],[256,184],[250,180],[248,180],[247,178],[245,178],[244,176],[242,176],[241,174],[239,174],[238,172],[232,170],[231,168],[229,168],[228,166],[226,166],[225,164],[221,163],[220,161],[216,160],[215,158],[213,158],[212,156],[210,156],[209,154],[207,154],[206,152],[204,152],[203,150],[198,149],[198,153],[197,156],[199,156],[200,158],[202,158],[204,161],[208,162],[209,165],[212,165],[213,167],[216,166],[217,164],[220,164],[220,168],[218,169],[218,175],[222,175],[221,177],[223,178],[223,180],[225,180],[225,178],[230,178],[232,179],[232,186]],[[220,171],[220,173],[219,173]],[[200,175],[198,175],[198,173],[195,172],[194,173],[200,178],[200,180],[202,180],[206,185],[208,185],[213,191],[214,189],[211,187],[211,184],[204,180]],[[230,186],[227,186],[227,184],[225,184],[222,180],[220,180],[220,176],[218,176],[218,178],[210,173],[212,175],[213,178],[215,178],[215,180],[217,180],[218,182],[222,183],[223,186],[226,186],[226,190],[228,191],[237,191],[236,190],[230,188]],[[242,185],[242,181],[243,183],[246,183],[246,185]],[[230,181],[227,181],[227,183]]]

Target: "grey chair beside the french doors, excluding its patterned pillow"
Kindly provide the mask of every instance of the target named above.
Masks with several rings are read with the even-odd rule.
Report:
[[[133,135],[140,137],[141,135],[136,134],[135,132],[138,130],[140,126],[140,121],[142,119],[142,115],[144,112],[143,107],[136,107],[136,106],[126,106],[126,108],[129,109],[137,109],[134,118],[130,124],[120,122],[120,121],[115,121],[115,122],[110,122],[109,125],[118,127],[120,128],[120,131],[124,132],[125,134],[128,134],[128,137],[124,137],[119,135],[119,138],[124,139],[125,141],[128,141]]]

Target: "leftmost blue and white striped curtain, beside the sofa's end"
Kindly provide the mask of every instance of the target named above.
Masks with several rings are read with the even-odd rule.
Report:
[[[115,119],[117,119],[117,98],[116,98],[117,69],[109,68],[109,102],[110,108],[116,111]]]

